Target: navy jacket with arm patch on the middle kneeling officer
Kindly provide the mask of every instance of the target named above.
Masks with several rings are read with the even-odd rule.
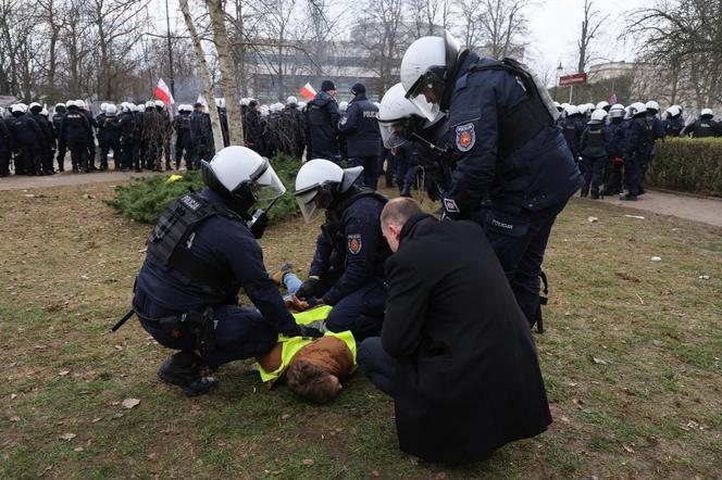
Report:
[[[361,197],[343,212],[333,207],[326,211],[309,275],[323,277],[332,266],[341,270],[323,296],[327,304],[335,305],[370,281],[384,277],[384,262],[390,251],[381,232],[383,209],[378,199]]]

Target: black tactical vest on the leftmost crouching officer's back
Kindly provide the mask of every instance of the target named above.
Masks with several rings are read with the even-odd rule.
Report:
[[[219,207],[198,193],[186,193],[174,200],[161,214],[150,232],[147,258],[167,271],[173,269],[184,285],[196,281],[206,294],[219,300],[226,296],[226,286],[210,271],[206,262],[190,251],[196,230],[208,218],[221,215],[242,224],[229,210]]]

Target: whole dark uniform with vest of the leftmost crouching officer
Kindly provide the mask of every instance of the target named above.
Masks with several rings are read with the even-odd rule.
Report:
[[[257,310],[238,305],[239,288]],[[261,355],[278,333],[298,334],[253,235],[206,188],[173,202],[151,232],[133,310],[159,343],[187,351],[198,349],[203,333],[184,326],[184,314],[190,318],[209,307],[212,331],[206,341],[214,345],[201,354],[210,367]]]

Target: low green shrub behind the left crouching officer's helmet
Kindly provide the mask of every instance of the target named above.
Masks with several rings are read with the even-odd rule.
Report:
[[[271,164],[288,191],[276,202],[269,213],[269,217],[271,220],[278,220],[298,215],[299,211],[294,199],[292,189],[296,174],[301,165],[300,162],[285,155],[278,155],[271,160]],[[203,188],[200,172],[184,172],[179,175],[183,178],[172,182],[167,181],[170,175],[135,178],[130,185],[115,187],[115,198],[107,200],[105,204],[126,218],[145,224],[154,224],[163,210],[174,199],[191,189],[200,190]]]

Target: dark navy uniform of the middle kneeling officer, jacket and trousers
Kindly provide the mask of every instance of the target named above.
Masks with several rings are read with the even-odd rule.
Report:
[[[376,192],[351,189],[326,210],[309,276],[321,277],[313,294],[334,306],[326,320],[332,331],[351,330],[357,339],[378,334],[390,255],[379,224],[385,203]]]

